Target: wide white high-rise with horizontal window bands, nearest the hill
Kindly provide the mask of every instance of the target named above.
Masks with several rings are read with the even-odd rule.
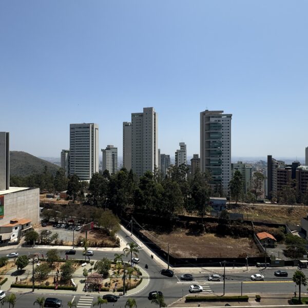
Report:
[[[99,126],[94,123],[70,124],[70,175],[90,180],[99,172]]]

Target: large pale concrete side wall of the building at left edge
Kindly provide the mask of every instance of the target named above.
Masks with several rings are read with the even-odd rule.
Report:
[[[13,218],[31,219],[32,224],[40,221],[40,188],[4,195],[4,217],[0,218],[0,225],[10,223]]]

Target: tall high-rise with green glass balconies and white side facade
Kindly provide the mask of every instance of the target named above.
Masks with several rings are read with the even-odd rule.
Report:
[[[208,170],[211,184],[227,194],[231,179],[231,120],[223,111],[200,112],[200,171]]]

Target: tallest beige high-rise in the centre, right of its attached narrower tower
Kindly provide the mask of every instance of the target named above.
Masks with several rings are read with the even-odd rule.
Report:
[[[131,113],[131,168],[138,176],[158,166],[157,118],[153,107]]]

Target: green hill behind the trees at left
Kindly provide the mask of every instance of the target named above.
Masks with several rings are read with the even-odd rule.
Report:
[[[29,176],[31,174],[42,173],[44,167],[55,175],[60,167],[49,163],[43,159],[37,158],[29,153],[22,151],[10,151],[10,175],[11,176]]]

